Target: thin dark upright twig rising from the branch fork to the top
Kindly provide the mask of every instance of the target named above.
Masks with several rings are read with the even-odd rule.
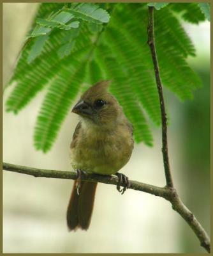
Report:
[[[163,163],[166,176],[166,186],[173,188],[172,175],[170,170],[170,163],[168,161],[168,143],[167,143],[167,125],[166,125],[166,111],[163,99],[163,90],[161,77],[159,74],[158,58],[156,54],[156,47],[154,42],[154,7],[149,6],[149,24],[148,24],[148,44],[151,49],[152,61],[154,65],[154,73],[156,76],[156,84],[158,86],[159,103],[161,106],[161,123],[162,123],[162,153]]]

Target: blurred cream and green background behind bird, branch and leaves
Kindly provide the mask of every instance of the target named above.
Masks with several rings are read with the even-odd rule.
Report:
[[[3,4],[3,82],[10,78],[31,25],[36,3]],[[179,102],[165,90],[170,117],[168,142],[173,180],[182,201],[210,234],[210,23],[183,23],[197,56],[189,63],[203,80],[195,99]],[[175,70],[174,70],[175,72]],[[181,74],[180,74],[181,76]],[[4,91],[4,101],[12,87]],[[33,147],[33,127],[45,92],[19,115],[4,111],[3,160],[37,168],[71,170],[70,141],[78,119],[71,114],[57,141],[43,154]],[[153,127],[154,147],[136,145],[122,172],[129,179],[165,186],[161,131]],[[3,172],[4,253],[196,253],[205,252],[179,214],[163,200],[98,184],[91,227],[69,233],[66,207],[72,180],[41,179]]]

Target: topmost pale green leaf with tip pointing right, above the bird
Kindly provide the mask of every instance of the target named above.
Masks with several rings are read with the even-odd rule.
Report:
[[[70,12],[77,19],[82,19],[87,22],[94,22],[96,24],[107,23],[110,20],[110,15],[107,11],[99,8],[94,4],[84,3],[75,6],[75,9],[65,9]]]

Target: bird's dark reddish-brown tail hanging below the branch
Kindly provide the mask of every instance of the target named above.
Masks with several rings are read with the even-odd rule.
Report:
[[[77,194],[76,183],[73,185],[66,220],[69,230],[82,228],[87,230],[91,221],[97,182],[81,181],[80,193]]]

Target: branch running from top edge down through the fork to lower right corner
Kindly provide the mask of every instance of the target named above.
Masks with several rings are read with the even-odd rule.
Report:
[[[165,177],[166,177],[166,188],[170,188],[172,196],[168,199],[172,208],[179,212],[180,216],[186,220],[189,226],[193,229],[196,236],[200,240],[200,245],[210,253],[210,239],[202,225],[196,220],[194,214],[187,209],[187,207],[180,200],[179,195],[177,194],[172,180],[172,174],[170,170],[170,163],[168,159],[168,142],[167,142],[167,125],[166,125],[166,111],[165,111],[165,103],[163,99],[163,89],[161,83],[161,77],[159,74],[158,67],[158,58],[156,54],[156,46],[154,39],[154,7],[149,6],[149,15],[148,15],[148,44],[151,49],[152,61],[154,65],[154,73],[156,77],[156,84],[158,87],[158,95],[159,95],[159,103],[161,108],[161,125],[162,125],[162,153],[163,153],[163,163],[165,169]]]

